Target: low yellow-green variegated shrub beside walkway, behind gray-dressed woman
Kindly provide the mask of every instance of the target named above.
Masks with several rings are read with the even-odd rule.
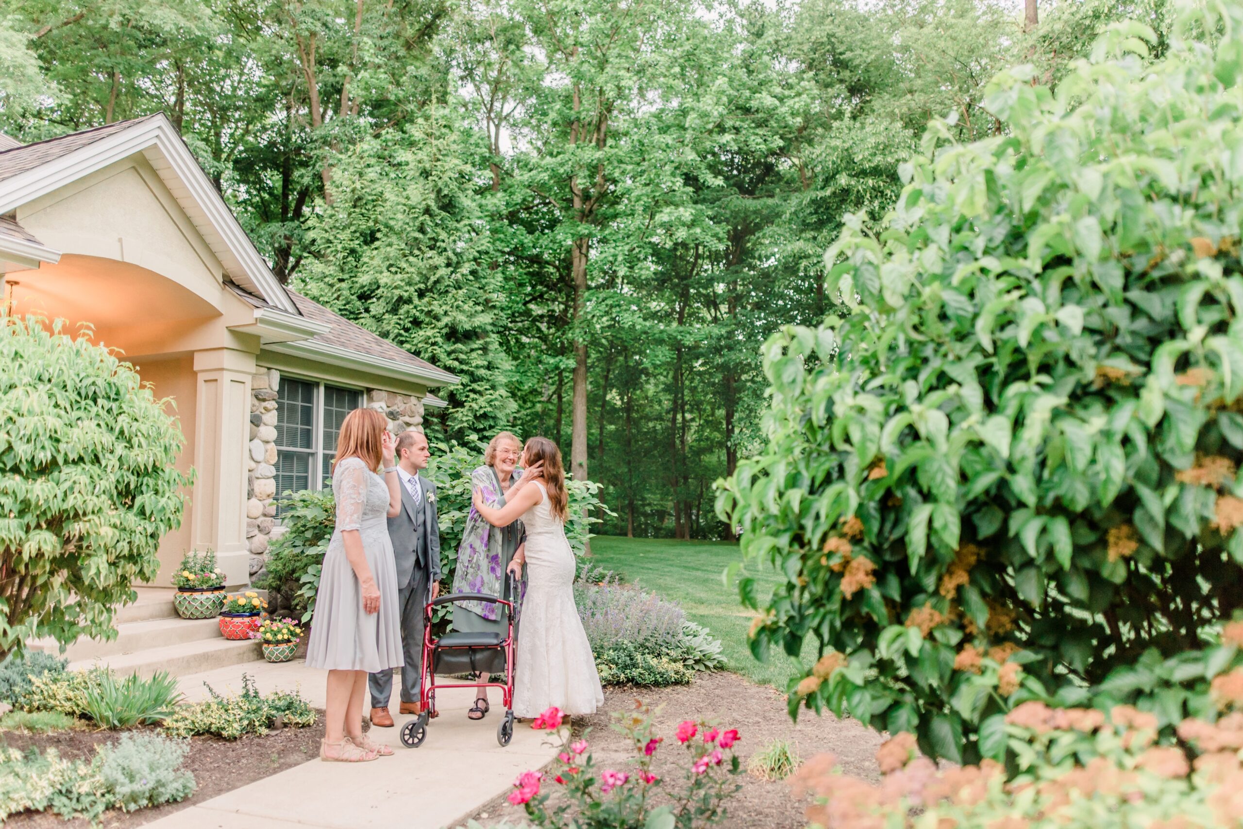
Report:
[[[277,717],[283,725],[297,728],[314,725],[316,712],[300,694],[277,691],[261,696],[247,674],[242,674],[241,683],[242,691],[236,696],[221,696],[208,685],[211,699],[179,705],[164,721],[164,731],[174,737],[210,733],[237,740],[244,735],[267,733]]]

